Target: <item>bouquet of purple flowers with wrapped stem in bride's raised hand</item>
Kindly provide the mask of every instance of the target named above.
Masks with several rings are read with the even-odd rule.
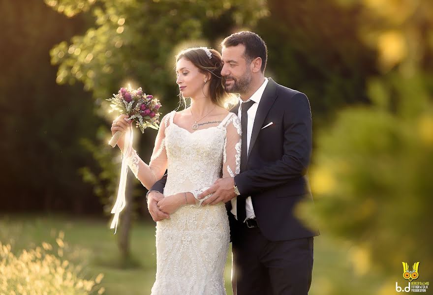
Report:
[[[132,89],[130,86],[122,87],[117,94],[113,94],[112,98],[106,100],[112,102],[110,106],[113,110],[128,115],[130,120],[135,119],[135,127],[140,127],[141,133],[144,133],[147,127],[158,129],[160,115],[158,110],[161,105],[152,95],[143,93],[141,87],[138,89]],[[113,148],[116,147],[121,136],[122,132],[116,131],[108,144]]]

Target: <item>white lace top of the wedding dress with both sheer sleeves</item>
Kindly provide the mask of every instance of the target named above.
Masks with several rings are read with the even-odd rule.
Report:
[[[145,187],[150,189],[168,169],[164,195],[191,192],[197,197],[220,177],[221,169],[222,177],[239,174],[241,123],[235,114],[194,132],[175,124],[175,114],[173,111],[162,119],[149,166],[132,150],[129,167]]]

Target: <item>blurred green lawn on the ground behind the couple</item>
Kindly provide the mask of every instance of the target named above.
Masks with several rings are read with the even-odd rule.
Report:
[[[130,261],[122,261],[116,243],[116,236],[109,229],[109,220],[77,218],[64,215],[5,215],[0,217],[0,241],[10,243],[16,255],[22,249],[29,249],[48,242],[56,245],[59,232],[64,232],[64,259],[83,265],[83,274],[94,279],[104,274],[101,286],[107,295],[150,294],[155,280],[155,224],[137,221],[131,235]],[[312,295],[321,292],[330,284],[327,280],[332,272],[351,273],[352,266],[344,258],[344,245],[336,245],[322,235],[314,239],[314,269],[310,289]],[[227,294],[231,295],[231,256],[227,259],[225,281]],[[361,282],[358,282],[361,284]],[[362,285],[362,284],[361,284]],[[362,287],[360,285],[360,287]],[[329,286],[328,286],[329,288]],[[355,293],[351,293],[355,294]]]

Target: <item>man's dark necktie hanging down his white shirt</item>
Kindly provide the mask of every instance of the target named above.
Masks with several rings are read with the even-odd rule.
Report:
[[[241,145],[241,173],[247,169],[247,127],[248,127],[248,109],[254,104],[254,101],[243,102],[241,104],[241,126],[242,126],[242,145]],[[238,220],[244,222],[247,217],[246,197],[238,196],[236,198],[236,215]]]

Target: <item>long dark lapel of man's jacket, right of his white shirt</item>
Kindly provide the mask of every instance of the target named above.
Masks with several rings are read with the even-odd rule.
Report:
[[[269,113],[272,105],[277,99],[277,95],[275,94],[277,89],[277,83],[274,80],[269,79],[268,85],[266,85],[265,91],[263,91],[262,98],[260,99],[259,106],[257,108],[257,113],[254,118],[254,125],[252,126],[251,139],[249,141],[248,148],[248,157],[251,154],[252,147],[254,147],[255,141],[257,140],[257,136],[259,135],[260,129],[265,121],[266,116]],[[239,105],[238,105],[239,108]],[[238,109],[236,109],[237,112]]]

